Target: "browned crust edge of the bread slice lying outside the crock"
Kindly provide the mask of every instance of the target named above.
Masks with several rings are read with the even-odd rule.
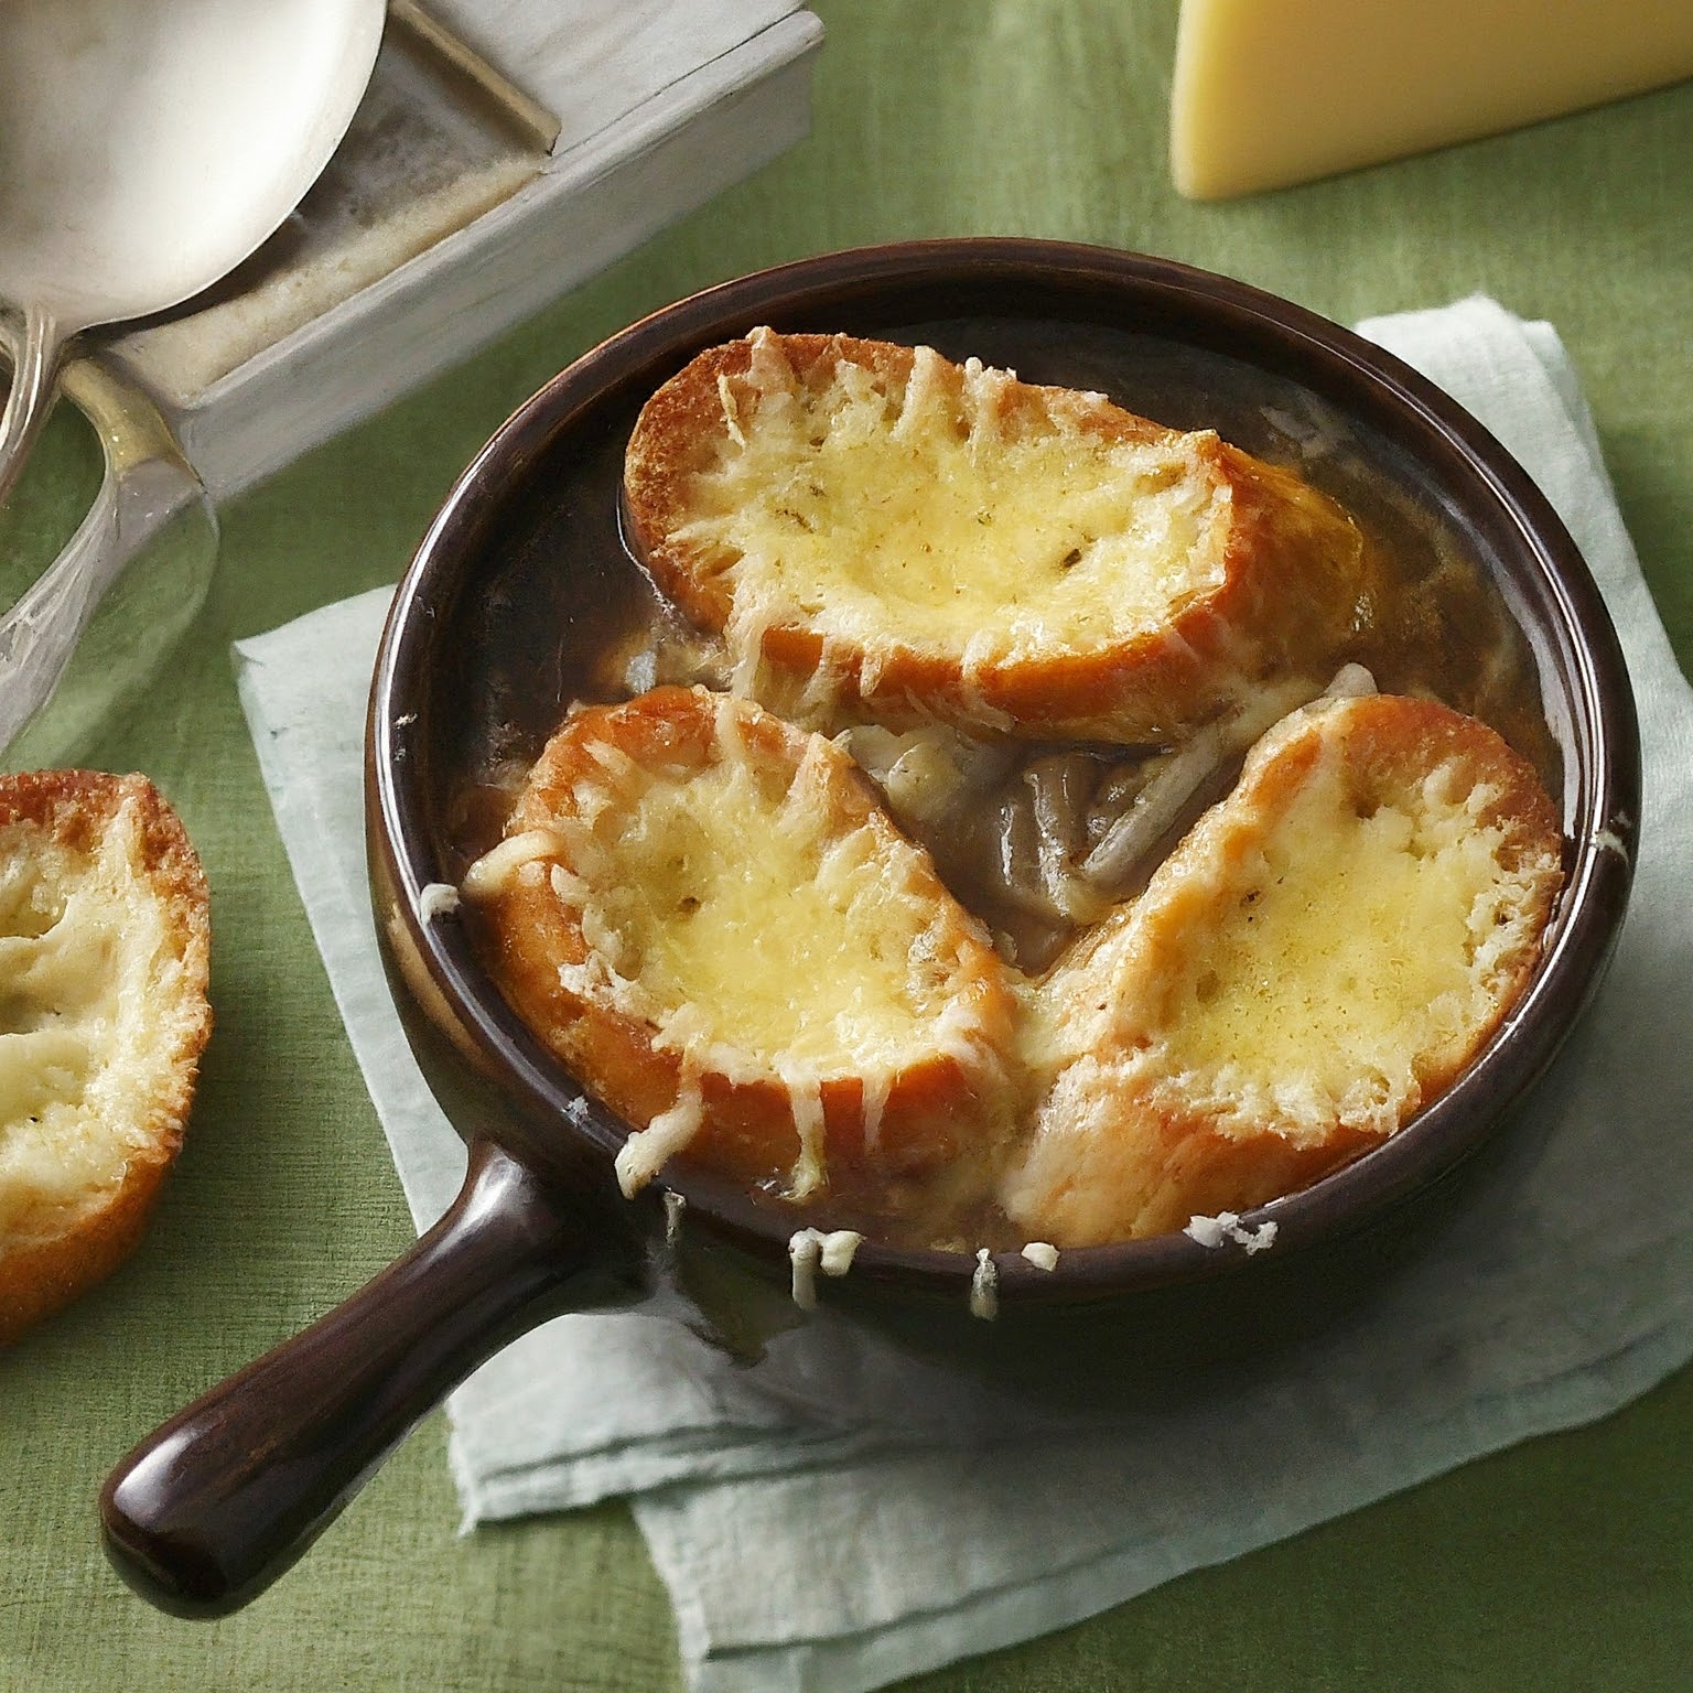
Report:
[[[0,775],[0,869],[52,850],[91,860],[117,830],[129,830],[124,869],[134,896],[164,914],[171,982],[161,989],[168,1004],[149,1007],[149,1016],[166,1019],[168,1033],[125,1099],[135,1133],[127,1136],[120,1178],[74,1205],[24,1202],[0,1238],[0,1344],[86,1292],[134,1251],[181,1148],[212,1031],[205,874],[157,789],[142,775],[95,770]],[[0,1041],[10,1034],[0,1026]]]

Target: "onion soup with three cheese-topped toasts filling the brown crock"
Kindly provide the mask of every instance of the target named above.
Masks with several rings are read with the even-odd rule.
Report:
[[[1561,884],[1532,659],[1263,410],[1282,462],[755,330],[606,444],[615,589],[554,633],[543,745],[491,701],[460,845],[625,1190],[692,1160],[960,1251],[1216,1233],[1485,1045]]]

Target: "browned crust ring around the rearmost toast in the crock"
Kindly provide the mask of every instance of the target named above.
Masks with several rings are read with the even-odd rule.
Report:
[[[850,366],[891,396],[892,416],[919,359],[923,381],[943,394],[960,430],[985,415],[995,435],[1058,432],[1160,450],[1197,499],[1227,510],[1197,560],[1210,586],[1177,593],[1165,616],[1107,638],[1019,637],[999,652],[980,648],[970,618],[945,640],[909,637],[892,615],[874,638],[843,638],[791,599],[752,630],[765,674],[740,653],[750,677],[742,691],[782,708],[821,682],[838,711],[892,725],[940,718],[1026,738],[1156,742],[1229,709],[1266,676],[1326,679],[1351,655],[1380,593],[1380,560],[1351,516],[1302,477],[1212,432],[1180,433],[1099,394],[1009,372],[982,381],[979,366],[848,335],[758,330],[701,352],[648,400],[625,459],[625,528],[659,587],[701,628],[735,638],[745,613],[740,555],[703,540],[698,520],[704,477],[735,452],[731,427],[758,428],[772,379],[755,381],[755,367],[786,371],[782,381],[814,393]],[[984,528],[982,545],[990,535]],[[968,572],[968,557],[957,564]]]

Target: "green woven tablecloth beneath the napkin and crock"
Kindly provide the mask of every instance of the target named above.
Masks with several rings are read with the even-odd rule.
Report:
[[[1693,664],[1693,83],[1261,198],[1170,188],[1175,0],[813,0],[809,141],[593,284],[222,513],[217,577],[90,762],[149,772],[213,891],[217,1031],[137,1256],[0,1353],[0,1688],[593,1690],[679,1683],[621,1507],[457,1536],[433,1415],[245,1612],[166,1619],[98,1546],[108,1468],[408,1241],[235,699],[232,640],[393,581],[454,476],[555,369],[704,284],[831,247],[1031,234],[1239,276],[1341,322],[1476,290],[1551,318]],[[0,521],[0,584],[86,498],[61,422]],[[15,584],[14,584],[15,586]],[[1679,1202],[1683,1195],[1666,1195]],[[1693,1373],[924,1693],[1646,1690],[1693,1663]]]

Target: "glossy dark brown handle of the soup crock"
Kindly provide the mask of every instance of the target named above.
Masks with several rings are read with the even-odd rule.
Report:
[[[623,1234],[623,1231],[620,1231]],[[491,1141],[416,1246],[142,1441],[100,1495],[142,1598],[218,1617],[271,1585],[484,1358],[560,1310],[638,1293],[638,1253]]]

